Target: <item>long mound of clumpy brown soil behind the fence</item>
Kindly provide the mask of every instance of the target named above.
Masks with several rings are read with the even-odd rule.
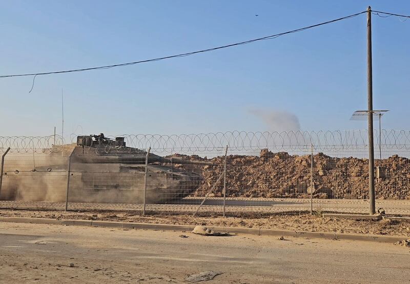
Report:
[[[224,157],[212,159],[197,155],[175,154],[190,161],[208,161],[212,165],[174,165],[202,172],[202,186],[195,196],[204,196],[223,172]],[[384,178],[376,182],[376,198],[410,199],[409,159],[393,155],[377,161],[385,169]],[[368,198],[368,161],[356,157],[314,155],[314,198]],[[272,153],[263,149],[260,156],[230,155],[227,157],[228,197],[310,198],[311,156]],[[222,183],[211,196],[222,196]]]

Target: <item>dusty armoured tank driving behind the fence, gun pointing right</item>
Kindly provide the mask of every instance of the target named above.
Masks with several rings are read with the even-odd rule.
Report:
[[[64,201],[68,168],[69,202],[141,204],[147,178],[148,204],[173,203],[194,193],[202,182],[200,174],[174,166],[183,160],[152,153],[147,157],[146,151],[127,147],[123,137],[110,139],[103,133],[77,136],[75,144],[53,146],[49,152],[36,159],[34,169],[27,166],[24,175],[18,169],[8,171],[11,190],[5,199]],[[71,156],[70,165],[67,156]],[[37,194],[39,184],[47,184],[47,193]]]

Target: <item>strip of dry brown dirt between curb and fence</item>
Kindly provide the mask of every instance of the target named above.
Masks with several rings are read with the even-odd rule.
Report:
[[[97,217],[93,217],[97,214]],[[0,217],[34,217],[52,219],[77,219],[100,221],[138,222],[171,225],[202,225],[263,228],[305,232],[335,232],[353,234],[393,235],[410,237],[410,220],[382,219],[348,220],[341,218],[322,218],[316,215],[272,215],[248,217],[201,217],[192,215],[146,215],[130,212],[65,212],[65,211],[28,211],[0,210]]]

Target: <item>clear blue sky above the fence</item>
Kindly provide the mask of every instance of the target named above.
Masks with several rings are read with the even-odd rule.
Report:
[[[408,1],[2,1],[0,75],[210,48]],[[258,16],[255,16],[258,14]],[[0,79],[0,136],[365,128],[365,15],[250,45],[90,72]],[[374,108],[409,129],[410,21],[373,15]]]

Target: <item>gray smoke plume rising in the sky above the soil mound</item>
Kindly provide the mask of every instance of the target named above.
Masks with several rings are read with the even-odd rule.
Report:
[[[300,130],[299,118],[287,111],[251,109],[249,112],[263,120],[269,131]]]

